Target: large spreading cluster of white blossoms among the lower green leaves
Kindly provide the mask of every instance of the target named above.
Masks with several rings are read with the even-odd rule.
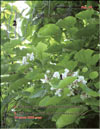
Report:
[[[42,83],[49,83],[50,86],[51,86],[50,90],[55,91],[54,94],[56,96],[60,97],[62,89],[61,88],[57,89],[57,88],[53,87],[53,85],[49,82],[49,78],[47,76],[49,73],[50,73],[50,70],[47,70],[46,74],[44,75],[44,79],[40,79],[40,80],[42,81]],[[73,76],[73,77],[77,77],[77,79],[75,81],[73,81],[72,84],[67,86],[69,91],[70,91],[70,93],[68,93],[67,96],[74,96],[75,94],[80,93],[80,89],[78,89],[79,88],[78,83],[81,82],[84,85],[86,85],[86,83],[87,83],[87,81],[85,80],[84,76],[79,76],[78,71],[70,73],[69,69],[66,68],[66,69],[64,69],[64,72],[61,73],[61,74],[58,71],[54,72],[51,79],[53,79],[53,78],[61,79],[60,75],[62,75],[62,79],[65,79],[65,78],[67,78],[69,76],[69,74],[71,76]],[[89,97],[89,96],[87,96],[87,97],[86,96],[87,96],[86,94],[85,95],[82,94],[80,97],[83,100],[83,98],[85,99],[85,98]]]

